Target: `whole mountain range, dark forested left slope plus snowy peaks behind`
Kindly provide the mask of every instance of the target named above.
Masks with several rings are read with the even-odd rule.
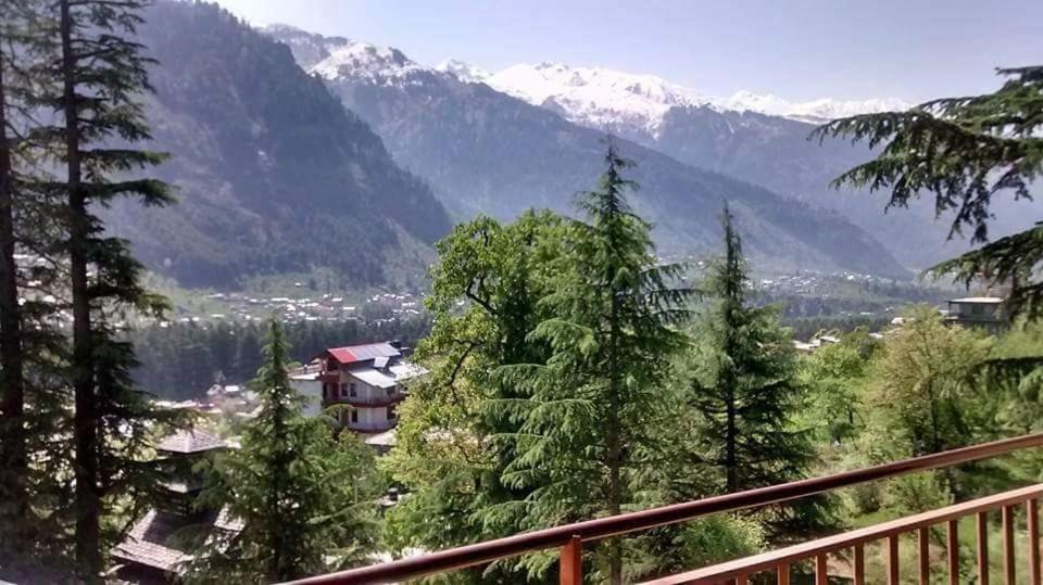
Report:
[[[185,285],[318,268],[343,288],[418,285],[453,221],[570,213],[602,171],[607,132],[637,163],[633,203],[664,255],[715,250],[725,201],[755,267],[905,276],[941,255],[943,226],[828,192],[868,151],[806,140],[808,119],[900,102],[708,98],[561,64],[425,66],[393,48],[255,29],[200,2],[158,3],[146,21],[152,148],[173,155],[160,175],[180,202],[108,218]]]

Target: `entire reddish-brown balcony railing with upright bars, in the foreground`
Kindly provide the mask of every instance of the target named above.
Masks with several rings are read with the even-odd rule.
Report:
[[[684,522],[700,517],[792,501],[842,487],[977,461],[1040,446],[1043,446],[1043,433],[894,461],[834,475],[771,485],[747,492],[516,534],[497,541],[487,541],[420,557],[304,578],[294,583],[302,585],[397,583],[467,567],[488,564],[499,559],[516,557],[526,552],[557,549],[560,583],[563,585],[579,585],[583,582],[582,550],[587,544],[614,536],[625,537],[657,526]],[[649,581],[644,585],[679,585],[682,583],[746,585],[754,580],[757,583],[789,585],[793,578],[795,565],[807,562],[813,567],[812,572],[816,585],[826,585],[830,583],[831,577],[839,576],[845,577],[845,582],[854,583],[854,585],[881,582],[885,582],[888,585],[897,585],[903,582],[902,580],[906,582],[915,581],[926,585],[931,583],[932,578],[938,582],[938,577],[944,576],[945,583],[956,585],[960,583],[962,578],[958,546],[960,519],[971,519],[975,526],[977,550],[973,558],[973,576],[970,577],[970,582],[979,585],[988,584],[990,582],[989,518],[990,514],[997,511],[1002,522],[1002,582],[1008,585],[1015,583],[1040,585],[1039,499],[1041,496],[1043,496],[1043,484],[1030,485],[713,567],[664,576]],[[1022,507],[1026,510],[1023,530],[1027,537],[1020,539],[1025,547],[1023,554],[1016,555],[1015,533],[1019,531],[1020,526],[1019,522],[1016,521],[1016,513]],[[932,555],[929,539],[930,531],[942,527],[945,532],[944,554],[941,556]],[[905,541],[902,539],[906,535],[912,535],[915,541],[915,578],[910,574],[901,574],[899,552],[903,542],[908,543],[908,537]],[[878,542],[882,544],[881,552],[885,576],[880,580],[867,581],[867,545]],[[843,575],[831,574],[831,572],[840,572],[835,568],[831,569],[829,562],[830,559],[837,559],[838,557],[851,559],[850,569],[843,570],[843,573],[845,573]],[[1019,557],[1025,560],[1025,565],[1020,568],[1017,563]],[[967,576],[965,575],[965,583],[968,582],[966,581]],[[995,580],[995,582],[1000,583],[1001,580]]]

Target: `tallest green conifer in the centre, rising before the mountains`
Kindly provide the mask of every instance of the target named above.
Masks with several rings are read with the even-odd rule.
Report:
[[[690,291],[675,287],[678,266],[657,264],[651,226],[627,202],[636,187],[623,176],[629,163],[611,141],[605,163],[599,188],[578,200],[588,222],[570,224],[540,301],[546,318],[529,335],[549,357],[503,367],[503,378],[530,395],[493,403],[520,422],[502,481],[531,491],[527,527],[648,505],[650,478],[664,471],[654,433],[675,406],[664,389],[684,338],[670,326],[687,316]],[[599,569],[620,583],[621,543],[610,541],[603,552]],[[546,565],[535,562],[532,571]]]

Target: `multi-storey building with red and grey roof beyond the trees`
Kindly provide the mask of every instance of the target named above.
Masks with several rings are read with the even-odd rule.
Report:
[[[323,352],[293,383],[305,396],[321,395],[322,405],[348,405],[341,424],[360,433],[384,433],[399,421],[410,380],[426,373],[404,359],[395,342],[334,347]]]

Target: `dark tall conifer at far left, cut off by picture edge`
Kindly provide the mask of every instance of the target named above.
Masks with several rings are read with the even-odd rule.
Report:
[[[49,301],[64,290],[50,255],[60,225],[52,198],[34,189],[46,154],[34,114],[52,87],[42,73],[53,58],[49,10],[0,1],[0,568],[14,580],[58,578],[65,567],[68,459],[55,444],[68,428],[65,346]]]

